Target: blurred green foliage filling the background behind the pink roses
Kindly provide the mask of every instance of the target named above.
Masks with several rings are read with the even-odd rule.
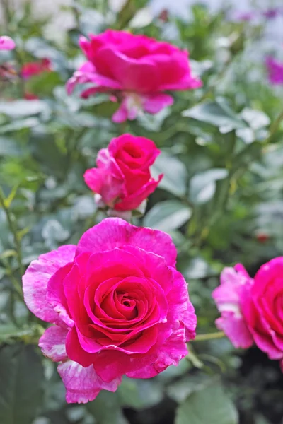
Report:
[[[58,27],[56,41],[46,30],[50,17],[34,17],[33,1],[13,8],[2,0],[1,34],[17,48],[1,52],[0,63],[20,71],[47,58],[52,71],[0,87],[0,423],[283,423],[278,363],[255,348],[236,351],[225,338],[192,342],[178,367],[124,379],[117,393],[85,406],[67,406],[55,365],[36,347],[40,322],[23,305],[21,275],[38,254],[76,243],[103,219],[83,172],[118,134],[146,136],[161,148],[154,173],[165,176],[144,218],[134,219],[172,235],[198,334],[216,331],[211,292],[224,266],[241,261],[253,275],[283,253],[283,90],[268,84],[258,59],[269,53],[264,20],[229,20],[228,6],[211,13],[195,4],[189,18],[178,18],[166,10],[154,16],[146,0],[113,4],[65,6],[73,24]],[[173,107],[123,125],[111,122],[117,105],[105,95],[68,97],[64,84],[82,59],[79,35],[106,28],[189,49],[203,88],[175,93]]]

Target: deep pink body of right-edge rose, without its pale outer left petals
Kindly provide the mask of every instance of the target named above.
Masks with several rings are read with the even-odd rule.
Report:
[[[243,293],[242,312],[258,347],[270,359],[282,361],[283,257],[260,267],[253,285]]]

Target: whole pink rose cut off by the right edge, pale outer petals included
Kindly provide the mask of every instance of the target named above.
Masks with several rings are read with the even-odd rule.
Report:
[[[212,293],[221,312],[216,326],[233,346],[255,343],[283,370],[283,257],[272,259],[250,278],[243,265],[224,268],[221,285]]]

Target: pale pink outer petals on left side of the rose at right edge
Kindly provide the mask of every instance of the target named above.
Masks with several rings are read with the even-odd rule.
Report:
[[[212,292],[212,298],[221,313],[216,319],[216,326],[224,331],[236,348],[249,348],[253,344],[253,337],[243,318],[241,300],[243,290],[253,284],[246,269],[241,264],[234,268],[224,268],[220,277],[221,285]]]

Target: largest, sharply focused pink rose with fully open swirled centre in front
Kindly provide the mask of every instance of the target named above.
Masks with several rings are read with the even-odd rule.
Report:
[[[54,325],[40,348],[59,362],[67,402],[149,378],[187,355],[196,316],[171,237],[107,218],[77,246],[42,254],[23,276],[31,312]]]

